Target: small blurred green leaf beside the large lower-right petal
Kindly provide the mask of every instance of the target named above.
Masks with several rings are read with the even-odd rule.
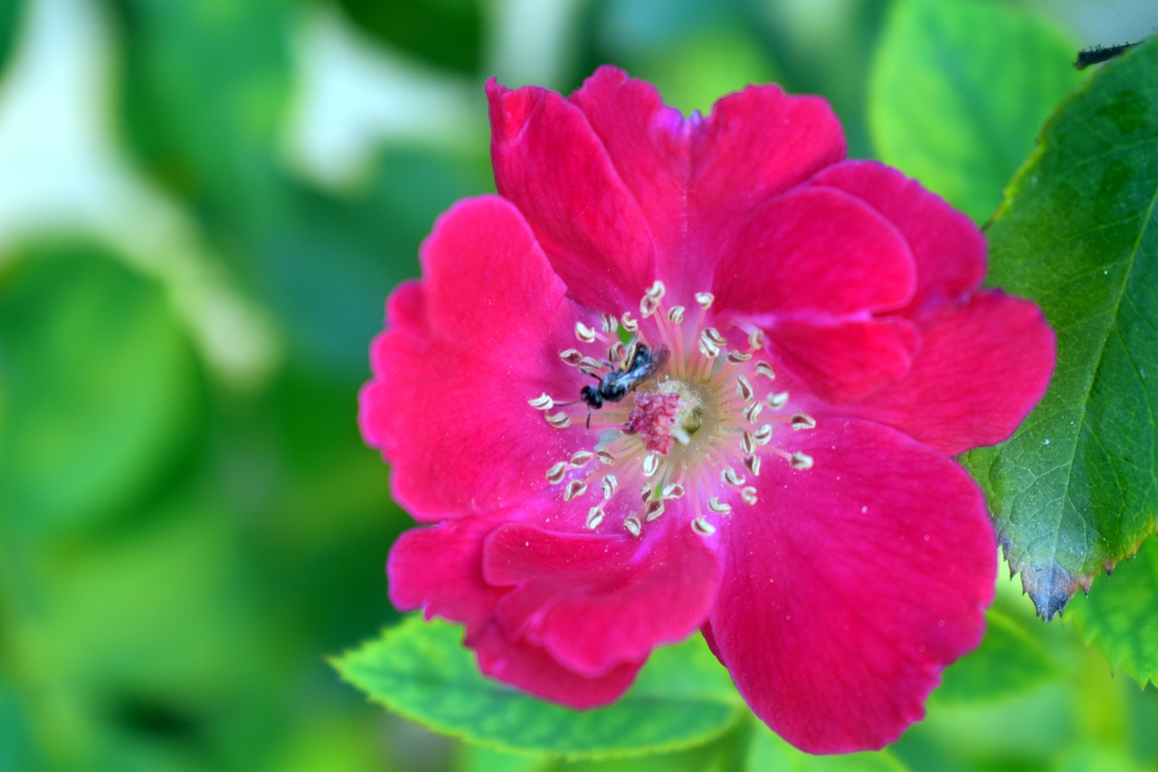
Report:
[[[1041,641],[997,609],[985,613],[981,648],[945,671],[932,699],[945,705],[996,702],[1053,680],[1057,665]]]

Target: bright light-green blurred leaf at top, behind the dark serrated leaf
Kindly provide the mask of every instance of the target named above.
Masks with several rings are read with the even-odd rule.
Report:
[[[868,93],[880,160],[983,221],[1042,121],[1080,82],[1073,51],[1058,31],[1009,5],[894,3]]]

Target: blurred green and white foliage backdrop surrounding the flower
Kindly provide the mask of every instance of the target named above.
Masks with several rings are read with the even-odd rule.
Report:
[[[899,2],[0,0],[0,770],[563,765],[431,735],[324,661],[397,620],[409,520],[356,425],[383,300],[493,189],[489,77],[614,63],[684,110],[775,80],[871,158]],[[1158,27],[1152,0],[1004,5],[1075,52]],[[935,695],[895,758],[1155,769],[1155,690],[998,585],[1018,689]]]

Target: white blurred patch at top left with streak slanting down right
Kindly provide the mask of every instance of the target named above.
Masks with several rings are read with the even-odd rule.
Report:
[[[85,0],[25,8],[0,81],[0,258],[36,234],[91,234],[164,283],[214,373],[263,383],[281,355],[270,316],[113,139],[107,20]]]

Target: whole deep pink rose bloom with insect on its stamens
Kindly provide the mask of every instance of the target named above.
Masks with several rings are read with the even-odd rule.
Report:
[[[965,216],[844,160],[820,99],[486,90],[499,195],[439,218],[361,393],[428,524],[394,603],[580,708],[698,628],[794,745],[892,742],[982,639],[996,544],[950,456],[1043,393],[1040,311],[979,289]]]

